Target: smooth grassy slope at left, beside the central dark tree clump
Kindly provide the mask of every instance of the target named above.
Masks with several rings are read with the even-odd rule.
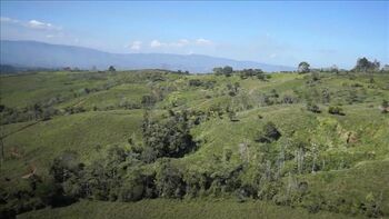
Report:
[[[47,175],[52,159],[66,150],[79,153],[81,160],[89,161],[109,145],[126,145],[128,138],[140,135],[140,110],[113,110],[110,112],[83,112],[67,117],[58,117],[49,121],[39,122],[7,137],[6,159],[2,175],[12,179],[1,178],[3,187],[14,187],[23,181],[29,166],[37,167],[39,175]],[[29,122],[23,122],[29,123]],[[14,126],[4,127],[4,132],[13,130]],[[9,151],[16,149],[21,158],[10,158]]]

